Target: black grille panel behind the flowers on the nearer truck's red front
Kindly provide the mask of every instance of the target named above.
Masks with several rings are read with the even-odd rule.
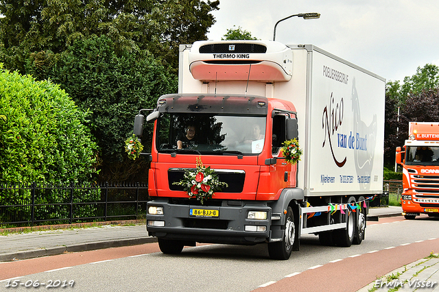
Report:
[[[189,169],[195,171],[195,169]],[[184,186],[174,184],[174,182],[180,182],[185,175],[186,169],[168,169],[167,177],[169,183],[169,189],[171,191],[184,191]],[[241,170],[232,169],[215,169],[215,173],[218,176],[220,182],[226,182],[228,186],[222,188],[222,193],[241,193],[244,189],[244,181],[246,180],[246,172]]]

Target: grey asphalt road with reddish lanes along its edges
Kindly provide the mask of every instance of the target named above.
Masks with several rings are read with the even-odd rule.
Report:
[[[93,292],[357,291],[377,276],[438,252],[438,227],[438,218],[426,216],[381,218],[368,222],[361,245],[327,247],[306,235],[300,251],[285,261],[270,260],[266,245],[202,245],[168,256],[156,243],[20,260],[0,263],[0,273],[20,276],[13,280],[23,284],[6,289],[3,281],[0,291],[32,291],[36,288],[25,285],[37,281],[45,283],[40,291],[55,282],[63,291]]]

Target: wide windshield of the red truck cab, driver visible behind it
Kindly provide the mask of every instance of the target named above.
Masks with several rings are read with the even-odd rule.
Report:
[[[159,152],[254,155],[265,141],[266,117],[163,113],[157,121]]]

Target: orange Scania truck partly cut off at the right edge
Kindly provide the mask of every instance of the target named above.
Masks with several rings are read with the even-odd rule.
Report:
[[[410,122],[403,149],[396,147],[396,162],[403,167],[405,219],[439,216],[439,123]]]

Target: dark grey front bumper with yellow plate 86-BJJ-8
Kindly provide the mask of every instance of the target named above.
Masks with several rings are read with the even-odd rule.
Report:
[[[163,215],[146,216],[150,236],[229,244],[261,243],[270,237],[271,208],[263,203],[225,200],[221,206],[198,206],[156,199],[148,202],[147,210],[150,206],[163,207]],[[194,215],[200,210],[206,215]],[[267,212],[267,219],[248,219],[249,211]]]

